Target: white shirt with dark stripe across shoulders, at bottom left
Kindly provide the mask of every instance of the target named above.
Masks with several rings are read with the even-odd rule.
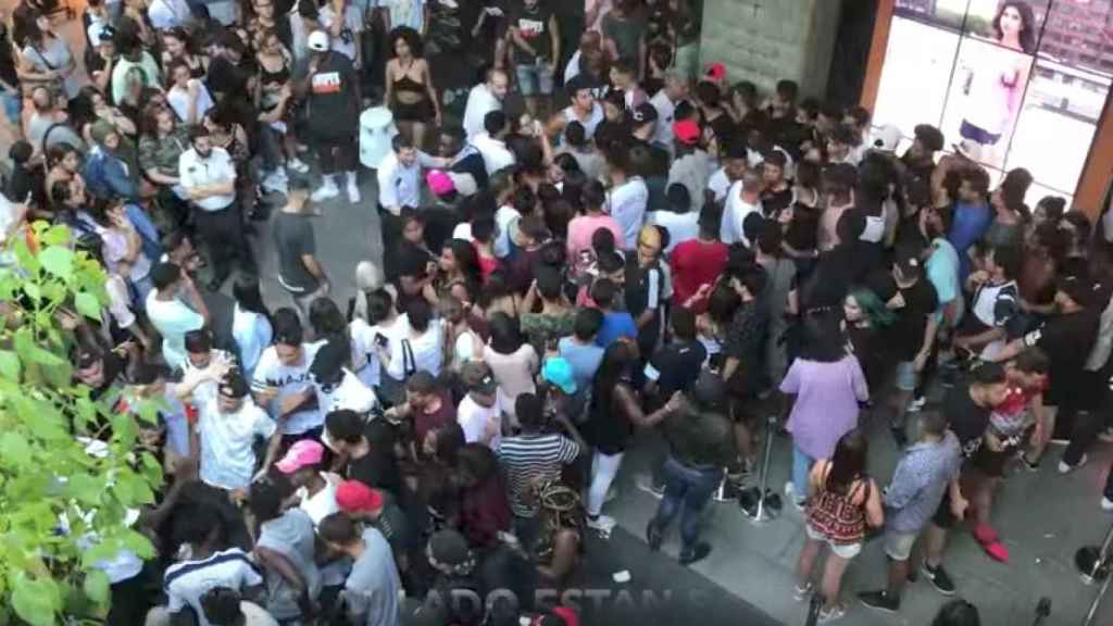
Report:
[[[193,608],[200,626],[209,626],[205,612],[201,610],[201,596],[210,589],[227,587],[243,591],[262,584],[259,569],[239,548],[214,552],[201,560],[174,564],[162,577],[167,610],[181,613],[186,607]]]

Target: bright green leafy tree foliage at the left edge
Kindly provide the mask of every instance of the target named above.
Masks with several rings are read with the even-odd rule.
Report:
[[[158,463],[137,450],[139,423],[73,382],[61,320],[100,320],[105,271],[75,253],[65,226],[32,225],[0,265],[0,624],[97,617],[109,581],[96,568],[121,549],[154,556],[127,511],[155,499]],[[111,394],[108,394],[111,395]],[[142,421],[154,408],[139,407]],[[90,454],[99,439],[107,453]],[[59,532],[65,520],[68,532]]]

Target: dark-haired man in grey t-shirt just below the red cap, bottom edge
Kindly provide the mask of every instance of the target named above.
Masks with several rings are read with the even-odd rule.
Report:
[[[391,545],[375,528],[362,532],[347,513],[321,520],[317,534],[329,549],[352,559],[339,601],[348,624],[397,626],[402,581]]]

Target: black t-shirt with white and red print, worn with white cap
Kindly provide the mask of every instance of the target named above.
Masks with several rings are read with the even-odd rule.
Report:
[[[321,137],[351,136],[359,115],[358,78],[352,61],[329,52],[309,78],[309,128]]]

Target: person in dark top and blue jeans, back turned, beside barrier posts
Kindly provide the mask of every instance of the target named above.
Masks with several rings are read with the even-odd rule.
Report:
[[[646,541],[651,550],[659,550],[664,532],[680,513],[681,565],[691,565],[711,554],[710,544],[699,540],[699,516],[719,487],[722,470],[737,456],[726,407],[726,383],[703,371],[684,394],[683,408],[661,422],[669,442],[664,498],[646,528]]]

